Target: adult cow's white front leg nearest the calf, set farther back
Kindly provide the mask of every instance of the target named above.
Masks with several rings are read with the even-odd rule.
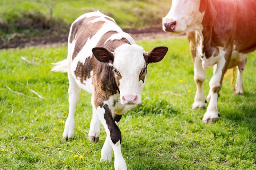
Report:
[[[205,72],[202,67],[202,60],[197,56],[194,58],[194,81],[196,83],[196,93],[194,103],[192,105],[193,109],[206,108],[204,104],[204,80]]]

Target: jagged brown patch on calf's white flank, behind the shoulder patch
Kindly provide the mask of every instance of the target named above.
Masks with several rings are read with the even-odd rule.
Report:
[[[92,59],[88,57],[85,59],[84,65],[81,62],[77,63],[76,71],[74,71],[76,77],[80,78],[80,82],[84,84],[83,81],[91,77],[90,72],[92,71]]]

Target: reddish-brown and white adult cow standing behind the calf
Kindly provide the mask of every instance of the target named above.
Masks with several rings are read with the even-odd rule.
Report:
[[[204,70],[213,67],[209,105],[203,121],[218,119],[217,98],[223,75],[238,67],[236,94],[243,94],[243,69],[247,54],[256,49],[255,0],[172,0],[163,18],[163,30],[185,33],[190,42],[197,91],[193,109],[205,108]]]

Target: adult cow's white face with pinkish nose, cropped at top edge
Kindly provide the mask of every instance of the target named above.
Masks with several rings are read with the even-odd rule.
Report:
[[[163,18],[163,30],[185,33],[202,29],[204,13],[200,13],[200,0],[172,0],[168,14]]]

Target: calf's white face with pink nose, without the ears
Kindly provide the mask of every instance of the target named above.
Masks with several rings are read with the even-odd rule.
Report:
[[[116,81],[120,83],[121,104],[141,103],[141,92],[146,80],[143,54],[144,49],[136,44],[123,44],[115,50],[113,66]]]

